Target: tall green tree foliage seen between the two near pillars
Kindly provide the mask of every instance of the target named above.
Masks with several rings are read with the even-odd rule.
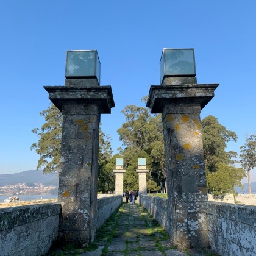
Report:
[[[126,106],[122,113],[126,116],[126,122],[118,129],[119,139],[124,146],[120,154],[129,173],[124,175],[124,189],[137,188],[137,174],[132,170],[138,168],[138,158],[146,158],[150,170],[148,180],[154,181],[149,183],[149,187],[157,190],[157,184],[164,185],[166,177],[161,115],[152,116],[148,108],[135,105]]]

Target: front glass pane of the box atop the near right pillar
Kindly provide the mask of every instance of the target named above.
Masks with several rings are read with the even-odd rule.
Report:
[[[193,49],[164,49],[165,75],[195,75]]]

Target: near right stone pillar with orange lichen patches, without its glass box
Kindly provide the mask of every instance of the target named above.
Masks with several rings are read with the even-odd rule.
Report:
[[[183,84],[184,82],[191,84]],[[207,247],[207,188],[200,113],[218,84],[196,84],[196,77],[168,77],[151,86],[147,107],[162,113],[171,242]]]

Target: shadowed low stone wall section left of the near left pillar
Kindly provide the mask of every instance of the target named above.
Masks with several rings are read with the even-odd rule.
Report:
[[[60,204],[0,209],[0,254],[43,255],[58,235]]]

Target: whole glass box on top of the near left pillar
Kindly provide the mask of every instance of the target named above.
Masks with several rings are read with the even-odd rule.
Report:
[[[101,63],[96,50],[66,51],[66,78],[101,78]]]

